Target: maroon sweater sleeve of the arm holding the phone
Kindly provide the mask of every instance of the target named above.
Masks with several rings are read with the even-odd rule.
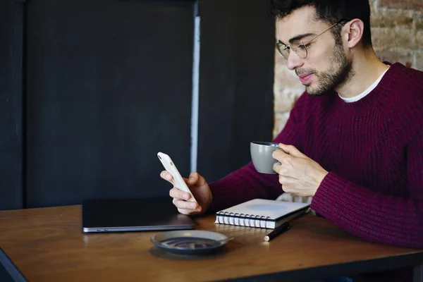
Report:
[[[302,135],[299,133],[299,125],[302,124],[300,122],[301,115],[305,112],[301,109],[305,104],[302,100],[300,97],[295,103],[285,127],[274,139],[274,142],[285,142],[301,148]],[[283,193],[278,175],[257,172],[251,161],[246,166],[209,185],[213,195],[209,212],[226,209],[255,198],[276,199]]]

